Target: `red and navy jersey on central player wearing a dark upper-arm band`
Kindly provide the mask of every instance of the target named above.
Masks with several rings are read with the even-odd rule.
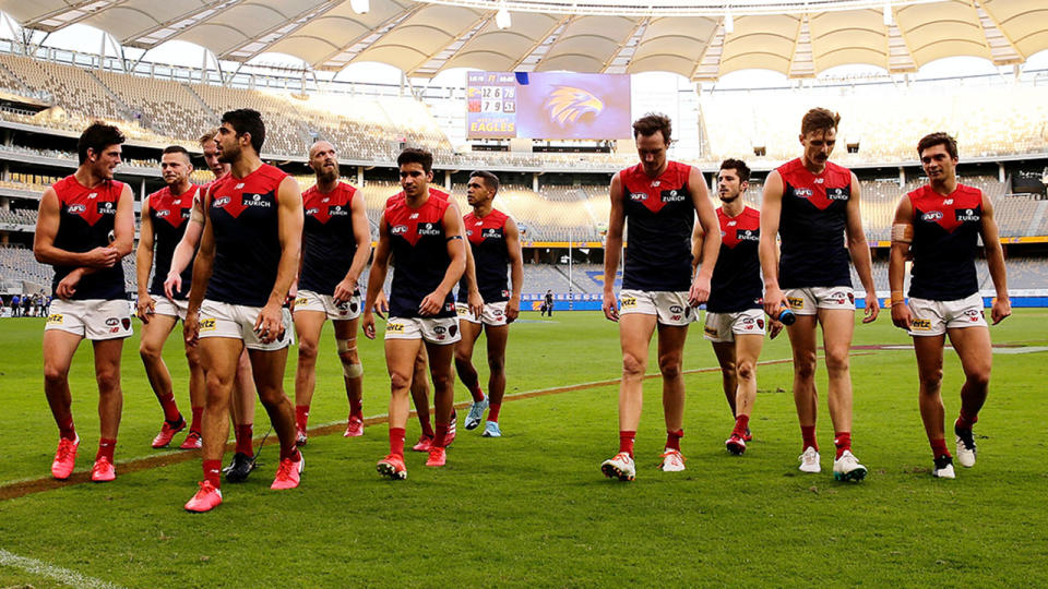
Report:
[[[440,286],[448,273],[448,236],[444,235],[445,200],[429,197],[418,208],[406,199],[391,199],[386,207],[386,230],[393,253],[393,284],[390,287],[390,316],[417,317],[422,299]],[[434,317],[455,316],[451,292]]]

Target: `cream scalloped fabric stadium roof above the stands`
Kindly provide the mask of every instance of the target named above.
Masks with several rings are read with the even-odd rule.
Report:
[[[810,77],[860,63],[913,72],[954,56],[1014,64],[1048,49],[1044,0],[0,0],[0,10],[26,28],[82,23],[146,50],[179,39],[224,61],[282,52],[317,70],[377,61],[417,77],[450,68]]]

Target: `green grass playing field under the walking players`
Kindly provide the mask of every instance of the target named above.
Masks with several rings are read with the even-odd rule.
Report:
[[[617,330],[597,313],[524,320],[512,328],[508,395],[618,377]],[[742,457],[724,449],[733,422],[719,373],[687,376],[681,473],[655,468],[665,434],[652,378],[633,483],[600,474],[617,449],[618,386],[596,384],[508,401],[504,437],[460,428],[448,466],[427,469],[425,456],[413,454],[406,481],[374,471],[386,452],[382,423],[361,438],[312,436],[302,485],[288,492],[269,489],[276,448],[266,445],[265,464],[248,482],[225,484],[225,503],[204,515],[181,507],[201,478],[195,457],[121,474],[121,461],[165,452],[150,448],[162,417],[132,338],[118,479],[0,501],[0,587],[1048,586],[1048,353],[1013,353],[1048,346],[1046,326],[1048,310],[1019,310],[992,328],[995,345],[1016,347],[996,350],[976,428],[979,461],[958,467],[953,481],[930,476],[913,351],[874,349],[908,344],[882,316],[857,328],[851,362],[855,452],[870,468],[860,484],[830,473],[821,366],[823,473],[797,471],[791,369],[778,363],[758,371],[755,438]],[[43,320],[0,322],[0,489],[49,476],[57,430],[43,393],[41,330]],[[312,425],[346,413],[330,329],[323,344]],[[762,360],[788,358],[788,349],[782,337]],[[361,351],[365,414],[381,416],[389,399],[381,342],[365,341]],[[177,337],[165,357],[188,409]],[[701,329],[692,329],[684,369],[715,365]],[[948,350],[950,419],[961,381]],[[71,383],[83,440],[78,470],[86,470],[98,436],[88,346]],[[456,399],[465,401],[461,388]],[[266,425],[260,408],[255,433]],[[416,421],[407,435],[417,437]]]

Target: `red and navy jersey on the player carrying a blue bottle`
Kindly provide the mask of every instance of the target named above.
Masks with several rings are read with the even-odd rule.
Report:
[[[851,199],[851,172],[827,161],[821,173],[811,173],[797,158],[783,164],[778,173],[783,178],[779,286],[850,287],[844,228]]]

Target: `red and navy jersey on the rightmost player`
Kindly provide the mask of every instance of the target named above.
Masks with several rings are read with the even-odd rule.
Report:
[[[909,296],[954,301],[978,292],[975,256],[982,229],[982,191],[957,184],[943,196],[924,185],[906,196],[914,208]]]

